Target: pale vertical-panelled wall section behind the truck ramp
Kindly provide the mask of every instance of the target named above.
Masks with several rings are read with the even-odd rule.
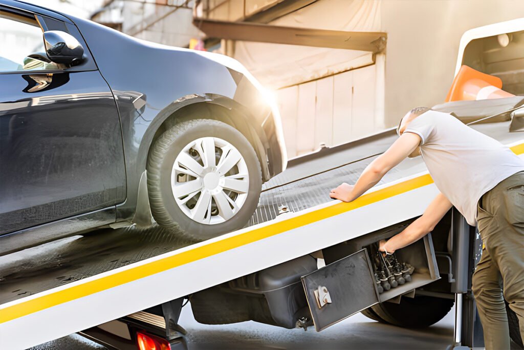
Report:
[[[371,65],[278,90],[288,156],[383,130],[383,122],[376,118],[381,89],[377,75],[383,71]]]

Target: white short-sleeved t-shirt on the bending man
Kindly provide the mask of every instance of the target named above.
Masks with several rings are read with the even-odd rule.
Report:
[[[482,195],[524,171],[524,160],[508,147],[447,113],[424,112],[405,132],[420,136],[420,153],[436,187],[472,226]]]

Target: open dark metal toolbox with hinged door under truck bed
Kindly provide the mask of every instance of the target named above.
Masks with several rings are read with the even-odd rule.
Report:
[[[302,284],[316,331],[440,278],[431,234],[397,250],[396,254],[399,260],[414,267],[412,280],[382,293],[377,289],[374,263],[366,248],[303,276]]]

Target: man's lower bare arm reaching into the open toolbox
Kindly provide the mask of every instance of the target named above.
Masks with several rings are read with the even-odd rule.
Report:
[[[450,201],[439,193],[420,218],[411,222],[400,234],[391,237],[388,241],[381,240],[379,250],[392,253],[421,239],[435,228],[451,207]]]

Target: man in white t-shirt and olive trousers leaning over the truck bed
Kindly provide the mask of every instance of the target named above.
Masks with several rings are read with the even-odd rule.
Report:
[[[355,185],[344,183],[330,196],[353,201],[406,157],[422,155],[440,194],[400,234],[381,241],[379,249],[388,254],[417,241],[454,206],[468,224],[478,226],[485,247],[473,274],[473,294],[486,349],[509,349],[504,299],[517,314],[524,338],[524,161],[452,115],[426,107],[403,116],[397,132],[399,139],[364,169]]]

